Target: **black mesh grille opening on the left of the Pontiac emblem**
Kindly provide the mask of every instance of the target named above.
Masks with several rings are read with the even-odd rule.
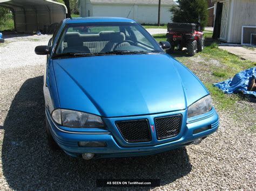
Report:
[[[126,142],[149,142],[151,140],[147,119],[118,121],[116,125]]]

